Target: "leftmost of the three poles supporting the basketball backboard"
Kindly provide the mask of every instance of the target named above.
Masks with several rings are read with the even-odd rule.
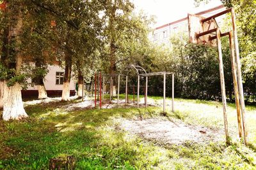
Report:
[[[226,136],[226,143],[229,145],[230,141],[228,136],[227,101],[226,101],[225,80],[224,80],[223,60],[222,60],[222,52],[221,52],[221,39],[220,39],[219,28],[217,28],[216,34],[217,34],[218,55],[219,55],[220,85],[221,85],[221,97],[222,97],[222,104],[223,104],[225,136]]]

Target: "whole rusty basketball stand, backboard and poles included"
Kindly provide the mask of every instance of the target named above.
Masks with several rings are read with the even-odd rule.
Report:
[[[222,33],[216,17],[231,14],[232,18],[232,30]],[[237,122],[239,129],[239,137],[243,138],[244,144],[248,145],[248,129],[246,127],[246,113],[244,106],[244,93],[243,93],[243,81],[241,75],[241,62],[239,57],[239,46],[237,40],[237,28],[236,28],[236,15],[234,8],[221,11],[211,17],[202,17],[199,15],[188,14],[188,28],[189,28],[189,43],[196,45],[207,45],[218,48],[219,56],[219,68],[220,68],[220,82],[221,82],[221,97],[223,103],[223,117],[225,125],[226,142],[230,143],[228,136],[228,122],[227,122],[227,101],[225,92],[225,80],[223,71],[223,60],[221,52],[221,37],[228,36],[230,42],[230,57],[232,64],[232,76],[234,82],[234,93],[236,98],[236,110],[237,110]],[[236,53],[236,56],[235,56]],[[241,122],[242,118],[242,122]],[[243,124],[243,125],[242,125]]]

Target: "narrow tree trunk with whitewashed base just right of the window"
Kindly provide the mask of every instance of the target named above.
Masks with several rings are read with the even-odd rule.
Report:
[[[62,100],[70,101],[70,79],[72,70],[72,58],[68,52],[65,53],[65,74],[62,89]]]

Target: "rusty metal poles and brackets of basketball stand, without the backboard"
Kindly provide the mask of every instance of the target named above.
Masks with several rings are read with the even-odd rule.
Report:
[[[237,110],[237,123],[239,130],[239,137],[244,138],[244,144],[248,145],[248,129],[246,125],[246,113],[245,113],[245,104],[244,104],[244,94],[243,94],[243,81],[241,74],[241,61],[239,57],[239,45],[237,39],[237,28],[236,28],[236,14],[234,8],[228,8],[227,10],[221,11],[220,13],[216,13],[211,17],[204,18],[200,20],[202,24],[209,20],[215,20],[216,17],[220,17],[221,15],[225,15],[226,13],[231,13],[232,18],[232,31],[221,33],[218,24],[216,29],[207,30],[205,32],[201,32],[196,34],[196,38],[200,36],[204,36],[206,34],[211,34],[212,32],[216,32],[215,36],[210,36],[209,41],[217,39],[218,42],[218,53],[219,53],[219,66],[220,66],[220,79],[221,79],[221,96],[223,102],[223,116],[224,116],[224,125],[225,125],[225,135],[226,141],[229,143],[228,137],[228,127],[227,127],[227,102],[225,96],[225,82],[224,82],[224,74],[223,74],[223,62],[222,62],[222,53],[221,53],[221,37],[228,36],[230,43],[230,58],[232,64],[232,76],[234,82],[234,93],[236,99],[236,110]],[[242,122],[241,122],[242,119]],[[243,127],[242,127],[243,126]]]

